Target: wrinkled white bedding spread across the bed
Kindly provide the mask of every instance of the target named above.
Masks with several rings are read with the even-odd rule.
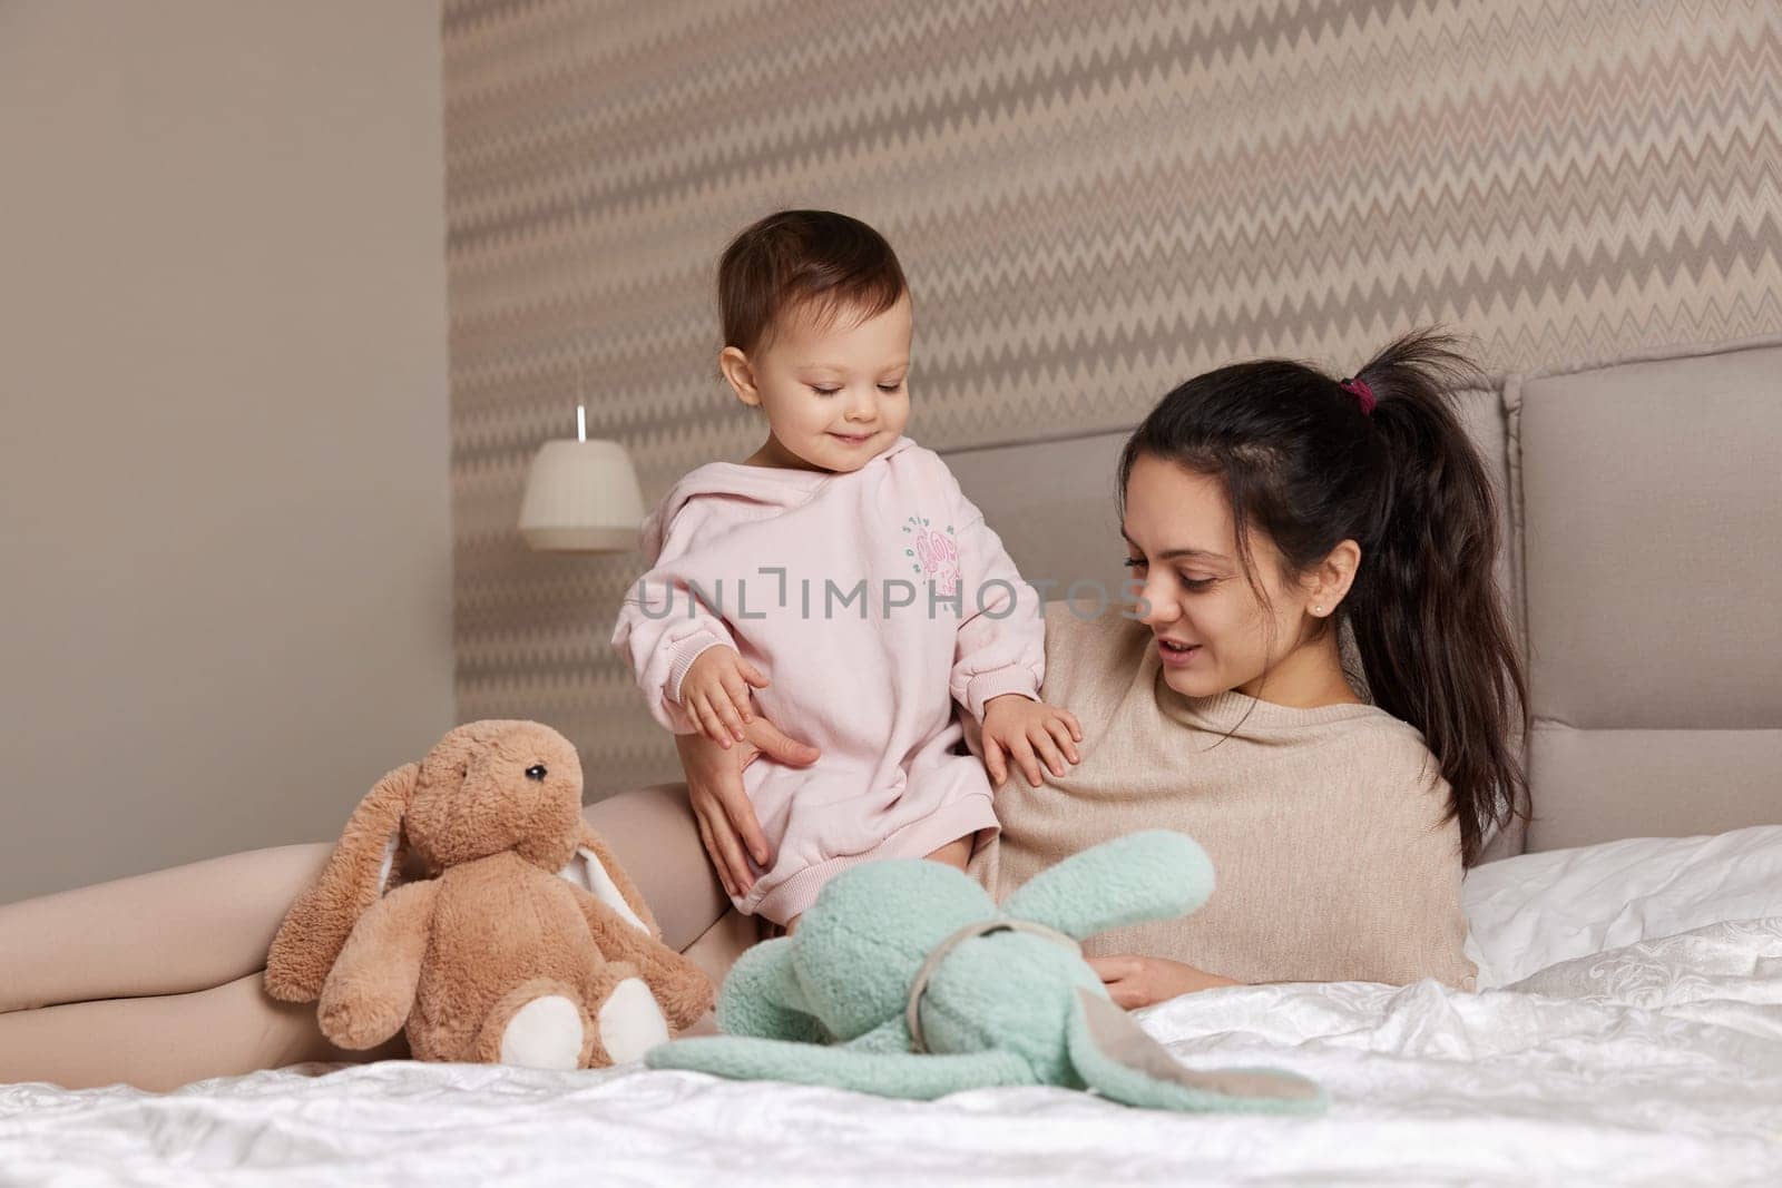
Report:
[[[636,1067],[312,1067],[169,1095],[0,1086],[0,1181],[1782,1184],[1782,915],[1483,994],[1237,987],[1139,1019],[1196,1065],[1317,1078],[1331,1111],[1171,1115],[1055,1088],[918,1104]]]

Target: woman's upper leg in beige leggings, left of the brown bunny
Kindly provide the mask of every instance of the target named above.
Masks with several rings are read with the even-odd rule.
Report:
[[[0,907],[0,1012],[191,994],[266,969],[326,844],[253,850]]]

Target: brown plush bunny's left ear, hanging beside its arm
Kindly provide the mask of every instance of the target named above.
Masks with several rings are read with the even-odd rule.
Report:
[[[376,782],[346,821],[315,885],[298,896],[266,958],[266,992],[287,1003],[314,1003],[358,917],[385,892],[401,842],[403,814],[415,794],[419,764],[403,764]]]

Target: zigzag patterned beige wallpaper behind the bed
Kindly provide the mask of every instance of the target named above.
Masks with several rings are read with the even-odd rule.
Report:
[[[916,294],[911,433],[1126,426],[1185,376],[1447,321],[1493,370],[1782,330],[1782,4],[449,0],[460,718],[674,771],[606,639],[640,557],[526,550],[526,463],[741,458],[716,255],[822,205]]]

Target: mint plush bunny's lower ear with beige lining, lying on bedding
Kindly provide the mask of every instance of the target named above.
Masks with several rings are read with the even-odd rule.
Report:
[[[1076,990],[1067,1044],[1076,1076],[1103,1097],[1128,1106],[1317,1113],[1328,1104],[1322,1088],[1292,1072],[1189,1069],[1133,1022],[1132,1015],[1087,989]]]

